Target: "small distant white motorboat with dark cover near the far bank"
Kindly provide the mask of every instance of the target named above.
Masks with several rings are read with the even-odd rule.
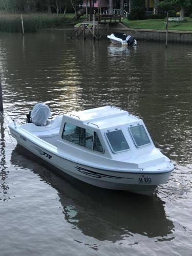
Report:
[[[125,33],[112,33],[107,36],[113,44],[121,46],[136,46],[137,40],[131,35],[126,35]]]

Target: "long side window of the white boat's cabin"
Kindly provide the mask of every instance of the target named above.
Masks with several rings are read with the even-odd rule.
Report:
[[[103,148],[96,132],[82,127],[65,123],[62,139],[89,148],[97,152],[103,152]]]

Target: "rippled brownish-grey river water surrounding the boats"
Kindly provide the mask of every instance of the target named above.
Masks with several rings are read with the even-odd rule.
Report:
[[[191,46],[126,48],[71,32],[0,34],[0,254],[191,255]],[[39,101],[53,116],[106,104],[138,115],[174,162],[172,176],[145,197],[55,174],[7,130]]]

